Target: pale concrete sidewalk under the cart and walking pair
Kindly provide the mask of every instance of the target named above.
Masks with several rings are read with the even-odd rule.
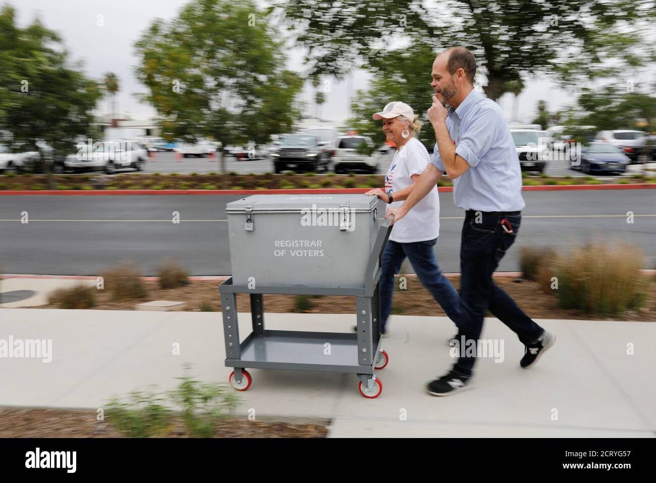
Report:
[[[354,323],[353,315],[265,318],[268,329],[283,330],[348,332]],[[538,323],[558,340],[533,369],[519,367],[523,346],[514,334],[487,319],[482,338],[504,340],[504,360],[481,358],[475,388],[435,398],[424,386],[453,362],[446,345],[453,323],[392,315],[379,398],[363,398],[355,375],[250,369],[253,385],[239,393],[238,413],[330,419],[333,437],[656,435],[656,323]],[[242,339],[250,327],[250,314],[240,313]],[[150,384],[173,388],[184,363],[200,380],[227,382],[230,374],[220,313],[0,309],[0,339],[9,336],[52,339],[52,361],[0,358],[0,405],[95,409]]]

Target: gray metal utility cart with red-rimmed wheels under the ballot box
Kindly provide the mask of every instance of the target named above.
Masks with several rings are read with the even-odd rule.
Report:
[[[256,287],[233,285],[232,277],[219,286],[226,344],[226,367],[234,368],[230,384],[239,391],[251,386],[249,369],[285,369],[355,373],[359,392],[377,398],[382,384],[374,373],[389,357],[380,344],[382,251],[392,231],[393,216],[379,225],[363,287]],[[250,294],[253,331],[241,342],[237,324],[237,294]],[[264,328],[263,294],[346,295],[357,298],[357,333],[274,331]],[[328,345],[329,344],[329,345]],[[329,348],[329,355],[326,350]]]

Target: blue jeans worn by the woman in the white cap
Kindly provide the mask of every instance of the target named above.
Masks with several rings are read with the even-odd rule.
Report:
[[[394,296],[394,275],[399,273],[405,257],[410,260],[419,281],[428,288],[441,308],[453,322],[458,324],[460,302],[458,292],[442,274],[435,259],[435,246],[438,239],[413,243],[399,243],[388,240],[382,252],[382,273],[380,274],[380,331],[385,332],[387,317],[392,310]]]

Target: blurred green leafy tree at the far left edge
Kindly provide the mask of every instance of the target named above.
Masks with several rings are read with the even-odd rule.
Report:
[[[81,63],[69,65],[55,32],[38,19],[24,29],[14,20],[14,9],[0,10],[0,129],[14,143],[45,141],[52,149],[42,152],[49,166],[52,156],[76,150],[75,141],[91,133],[102,94]]]

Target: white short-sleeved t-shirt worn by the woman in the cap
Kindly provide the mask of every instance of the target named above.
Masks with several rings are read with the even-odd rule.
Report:
[[[385,193],[401,191],[411,185],[412,175],[421,174],[430,163],[428,151],[413,137],[396,151],[390,169],[385,175]],[[389,208],[400,208],[403,201],[395,201]],[[398,223],[390,235],[390,240],[411,243],[432,240],[440,235],[440,196],[434,186],[428,195],[415,205]]]

